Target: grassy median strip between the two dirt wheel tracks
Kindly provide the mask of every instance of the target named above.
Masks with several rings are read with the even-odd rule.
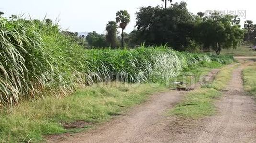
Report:
[[[184,101],[177,104],[168,114],[192,119],[214,114],[216,112],[214,102],[222,95],[220,90],[226,88],[233,69],[234,66],[221,68],[212,84],[188,92]]]

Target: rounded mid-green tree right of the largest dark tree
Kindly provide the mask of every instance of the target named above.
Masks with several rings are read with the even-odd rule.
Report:
[[[243,30],[240,25],[233,25],[234,17],[220,15],[217,12],[195,26],[195,38],[204,48],[212,48],[220,54],[223,48],[236,48],[243,40]]]

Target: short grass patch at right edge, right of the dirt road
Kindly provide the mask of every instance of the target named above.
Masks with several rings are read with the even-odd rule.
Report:
[[[256,96],[256,65],[243,70],[244,91]]]

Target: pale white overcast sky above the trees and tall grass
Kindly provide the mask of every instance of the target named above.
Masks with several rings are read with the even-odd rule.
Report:
[[[241,15],[241,25],[245,20],[256,22],[256,1],[254,0],[173,0],[185,1],[188,10],[194,14],[206,10],[219,10],[223,13],[238,12]],[[168,3],[170,4],[170,3]],[[12,14],[23,17],[30,15],[32,19],[43,20],[44,17],[53,21],[59,20],[62,29],[72,32],[91,32],[105,34],[108,21],[115,20],[116,12],[128,10],[131,22],[125,32],[129,33],[136,24],[136,12],[140,7],[163,6],[161,0],[1,0],[0,11],[9,17]],[[240,10],[240,11],[239,11]],[[246,18],[244,17],[246,10]]]

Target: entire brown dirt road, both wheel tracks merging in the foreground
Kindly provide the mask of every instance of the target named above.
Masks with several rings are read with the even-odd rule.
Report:
[[[253,98],[243,91],[243,67],[234,70],[227,91],[216,103],[218,113],[212,117],[191,120],[165,116],[164,112],[186,94],[184,91],[170,91],[152,96],[151,100],[132,109],[127,115],[100,125],[97,129],[49,142],[256,142],[256,106]]]

